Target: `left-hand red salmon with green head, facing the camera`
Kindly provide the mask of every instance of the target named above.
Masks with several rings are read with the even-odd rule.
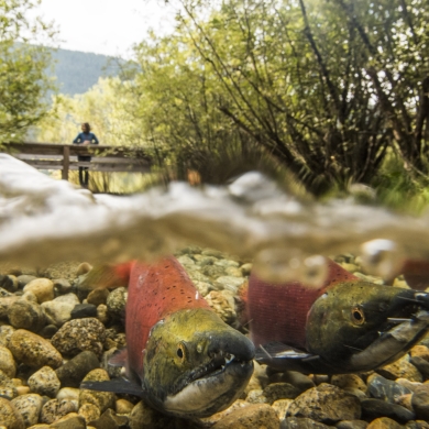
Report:
[[[141,396],[180,417],[208,417],[235,400],[253,373],[254,345],[209,307],[174,257],[130,267],[127,380],[82,388]]]

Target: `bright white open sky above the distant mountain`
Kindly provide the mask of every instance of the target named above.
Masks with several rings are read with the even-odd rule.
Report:
[[[164,0],[42,0],[36,13],[54,21],[59,47],[112,56],[129,57],[151,28],[174,29],[174,7]]]

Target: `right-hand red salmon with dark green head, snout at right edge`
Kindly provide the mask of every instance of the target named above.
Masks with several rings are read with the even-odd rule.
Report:
[[[329,264],[330,278],[318,290],[251,278],[250,318],[258,361],[280,371],[365,372],[394,362],[427,333],[429,294],[362,282],[333,262]],[[256,288],[253,293],[252,287]],[[274,288],[277,301],[283,294],[299,302],[283,317],[283,330],[272,324],[276,333],[270,334],[257,324],[263,323],[258,320],[263,311],[261,300],[253,298],[262,289]],[[282,319],[280,311],[272,309],[271,315]]]

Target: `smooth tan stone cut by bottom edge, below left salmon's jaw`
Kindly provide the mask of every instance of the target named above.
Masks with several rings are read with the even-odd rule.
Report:
[[[254,404],[237,409],[220,419],[212,429],[279,429],[276,411],[267,404]]]

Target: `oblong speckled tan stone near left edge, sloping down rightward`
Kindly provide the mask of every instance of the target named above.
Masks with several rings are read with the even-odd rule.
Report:
[[[62,355],[50,341],[24,329],[12,333],[9,350],[16,361],[30,367],[48,365],[56,369],[63,363]]]

